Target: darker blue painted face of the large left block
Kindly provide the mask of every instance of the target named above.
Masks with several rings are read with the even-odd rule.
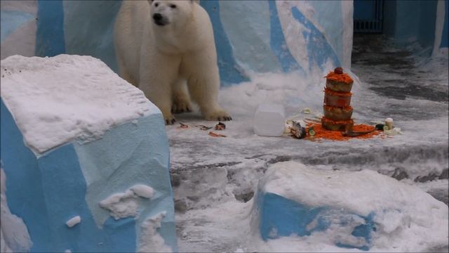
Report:
[[[135,252],[135,221],[115,221],[97,228],[84,196],[86,181],[74,146],[64,145],[36,158],[3,103],[1,108],[1,161],[8,177],[8,206],[27,225],[31,252]],[[27,182],[27,183],[23,183]],[[74,228],[65,226],[71,217],[83,220]],[[120,230],[115,228],[120,226]],[[98,244],[102,242],[102,244]]]

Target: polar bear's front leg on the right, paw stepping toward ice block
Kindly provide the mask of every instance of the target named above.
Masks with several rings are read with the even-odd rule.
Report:
[[[204,50],[207,52],[207,50]],[[213,57],[206,53],[193,53],[183,60],[187,71],[187,86],[190,97],[198,103],[203,117],[208,120],[226,121],[231,116],[218,105],[220,75]]]

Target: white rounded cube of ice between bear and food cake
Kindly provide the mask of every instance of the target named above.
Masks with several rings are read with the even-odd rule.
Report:
[[[260,104],[254,115],[254,132],[259,136],[281,136],[286,124],[283,105]]]

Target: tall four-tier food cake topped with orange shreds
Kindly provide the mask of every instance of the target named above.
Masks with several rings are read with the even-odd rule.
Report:
[[[326,76],[324,90],[324,117],[321,124],[331,131],[351,131],[354,120],[351,119],[351,89],[354,81],[341,67],[335,68]]]

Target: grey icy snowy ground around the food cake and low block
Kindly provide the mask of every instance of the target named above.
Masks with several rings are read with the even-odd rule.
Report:
[[[314,117],[301,114],[303,108],[321,112],[322,77],[328,70],[306,80],[295,74],[256,74],[252,82],[223,89],[220,101],[233,121],[225,122],[225,131],[215,132],[226,138],[192,127],[216,124],[198,113],[177,115],[178,122],[191,126],[167,126],[180,252],[297,251],[293,246],[301,242],[294,239],[267,244],[249,235],[258,179],[270,164],[288,160],[317,169],[373,169],[419,186],[447,205],[448,58],[424,60],[425,53],[429,51],[400,49],[380,36],[354,38],[351,75],[360,78],[351,101],[355,122],[391,117],[403,135],[335,142],[253,134],[253,113],[262,101],[283,103],[290,117]],[[302,243],[306,252],[348,250]],[[399,251],[413,250],[403,243]],[[447,252],[448,245],[426,250]]]

